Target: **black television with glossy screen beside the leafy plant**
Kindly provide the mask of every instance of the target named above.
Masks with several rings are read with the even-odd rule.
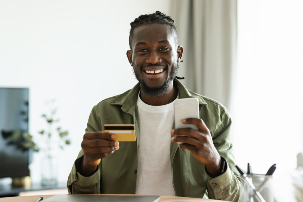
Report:
[[[11,144],[15,131],[28,131],[28,88],[0,88],[0,178],[29,176],[30,151]]]

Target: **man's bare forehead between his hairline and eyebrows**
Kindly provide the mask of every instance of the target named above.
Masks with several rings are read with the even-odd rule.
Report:
[[[174,44],[174,38],[169,25],[148,24],[135,28],[132,45],[138,42],[158,43],[167,40],[171,45]]]

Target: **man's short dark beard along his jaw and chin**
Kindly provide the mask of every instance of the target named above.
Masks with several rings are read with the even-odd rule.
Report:
[[[179,68],[178,63],[172,65],[171,72],[168,76],[165,77],[165,80],[164,80],[163,84],[160,87],[155,87],[155,88],[149,87],[143,79],[140,79],[139,75],[137,75],[135,73],[134,69],[133,69],[133,73],[135,74],[136,79],[139,81],[139,83],[141,85],[141,90],[145,94],[147,94],[149,97],[157,98],[157,97],[159,97],[161,95],[164,95],[168,92],[169,85],[170,85],[171,81],[175,78],[175,76],[177,74],[177,71],[178,71],[178,68]]]

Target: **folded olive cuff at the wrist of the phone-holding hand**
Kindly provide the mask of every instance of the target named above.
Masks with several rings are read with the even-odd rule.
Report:
[[[207,178],[207,181],[209,182],[208,184],[212,187],[213,191],[221,190],[224,187],[228,186],[228,184],[231,183],[231,179],[232,179],[231,173],[232,172],[228,166],[226,159],[222,156],[221,156],[221,159],[222,159],[222,161],[223,160],[225,161],[225,171],[221,175],[219,175],[217,177],[211,177],[205,168],[205,171],[207,174],[206,178]]]

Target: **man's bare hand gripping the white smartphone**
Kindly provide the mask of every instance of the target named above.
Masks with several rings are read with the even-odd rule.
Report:
[[[193,124],[198,126],[199,131],[188,128],[179,128],[171,130],[172,142],[182,142],[180,149],[187,149],[192,152],[194,157],[205,164],[209,174],[218,176],[220,174],[221,157],[215,148],[208,127],[202,119],[188,118],[182,120],[183,124]],[[180,136],[187,135],[187,136]]]

